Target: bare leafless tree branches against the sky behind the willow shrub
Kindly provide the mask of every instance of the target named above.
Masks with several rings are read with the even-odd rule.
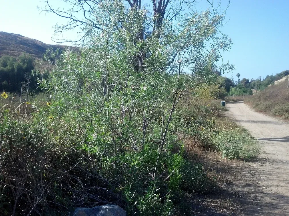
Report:
[[[95,19],[94,12],[97,10],[99,3],[102,0],[63,0],[64,2],[71,5],[67,9],[53,8],[49,3],[49,0],[44,0],[47,7],[40,8],[40,10],[45,12],[51,12],[61,18],[67,19],[66,24],[57,24],[55,25],[55,33],[62,34],[64,31],[69,31],[73,29],[84,29],[86,26],[92,26],[92,29],[102,31],[101,25]],[[141,0],[123,0],[126,1],[131,8],[136,10],[142,9]],[[153,29],[158,29],[162,25],[164,19],[169,21],[173,20],[177,15],[184,11],[186,5],[192,5],[194,0],[178,0],[175,2],[173,0],[151,0],[153,3]],[[92,30],[93,31],[93,30]],[[87,35],[83,35],[84,31],[78,32],[81,37],[76,40],[68,39],[56,39],[55,42],[75,42],[83,43]],[[141,36],[142,34],[140,34]],[[142,37],[140,37],[142,38]]]

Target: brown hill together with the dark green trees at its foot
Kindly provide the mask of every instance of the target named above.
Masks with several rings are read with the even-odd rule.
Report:
[[[21,82],[29,82],[30,91],[37,92],[40,89],[37,89],[32,72],[45,76],[68,48],[71,47],[49,45],[22,35],[0,32],[0,91],[20,94]]]

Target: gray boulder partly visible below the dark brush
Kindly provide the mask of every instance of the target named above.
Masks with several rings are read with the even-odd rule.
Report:
[[[73,216],[126,216],[126,213],[117,205],[103,205],[93,208],[77,208]]]

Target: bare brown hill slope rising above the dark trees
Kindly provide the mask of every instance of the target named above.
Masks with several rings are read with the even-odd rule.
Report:
[[[22,35],[0,31],[0,57],[5,55],[18,57],[26,52],[35,58],[43,58],[43,54],[51,47],[60,50],[68,48],[68,46],[50,45]]]

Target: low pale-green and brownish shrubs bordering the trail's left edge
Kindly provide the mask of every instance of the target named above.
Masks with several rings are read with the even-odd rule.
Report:
[[[199,140],[202,149],[217,150],[224,158],[254,158],[258,146],[241,126],[219,115],[220,101],[194,103],[189,109],[174,115],[172,129],[180,134],[189,134]]]

